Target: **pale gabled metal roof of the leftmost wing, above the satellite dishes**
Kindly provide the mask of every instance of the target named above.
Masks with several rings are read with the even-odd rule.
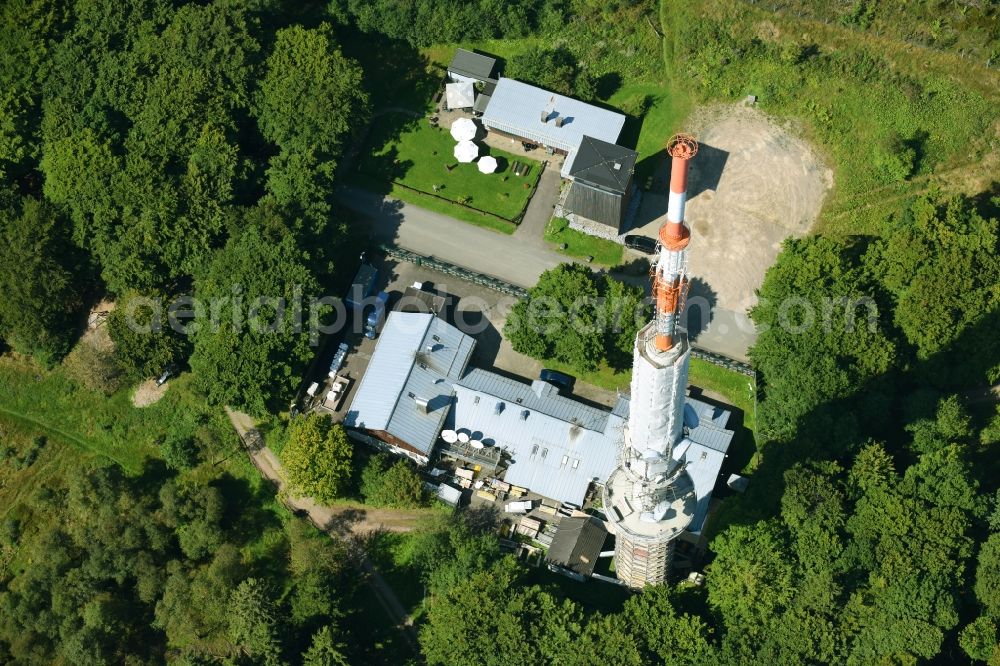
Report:
[[[392,312],[344,418],[430,454],[475,340],[432,314]],[[424,410],[420,401],[426,401]]]

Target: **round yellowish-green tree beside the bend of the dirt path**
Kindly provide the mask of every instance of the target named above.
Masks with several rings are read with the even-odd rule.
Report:
[[[313,413],[288,424],[281,461],[295,490],[319,502],[343,496],[351,478],[353,447],[340,424]]]

